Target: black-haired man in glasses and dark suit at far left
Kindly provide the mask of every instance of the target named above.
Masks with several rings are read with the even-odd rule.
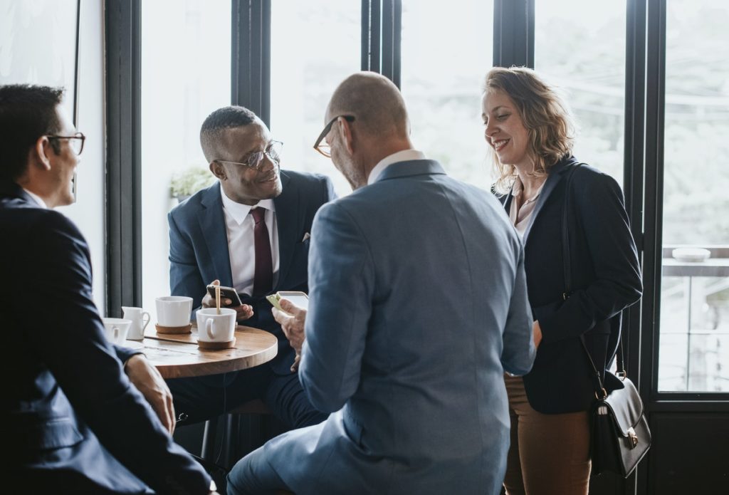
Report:
[[[87,243],[52,210],[74,201],[85,140],[61,111],[62,95],[0,86],[3,486],[33,494],[208,494],[210,477],[171,440],[164,381],[144,356],[106,341]]]

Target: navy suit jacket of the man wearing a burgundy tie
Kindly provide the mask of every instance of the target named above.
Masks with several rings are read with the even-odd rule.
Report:
[[[321,205],[336,198],[332,182],[318,174],[281,171],[283,191],[273,200],[278,225],[278,281],[273,292],[308,292],[307,264],[311,222]],[[232,287],[225,214],[220,185],[213,184],[176,206],[168,215],[170,225],[170,291],[192,297],[198,308],[206,286],[216,278]],[[265,297],[241,297],[253,306],[254,316],[244,324],[272,332],[278,338],[278,355],[273,359],[277,373],[291,373],[295,353],[281,327],[273,319]]]

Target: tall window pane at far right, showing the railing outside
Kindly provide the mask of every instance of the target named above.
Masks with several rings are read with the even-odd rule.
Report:
[[[729,391],[727,23],[725,1],[666,2],[660,391]]]

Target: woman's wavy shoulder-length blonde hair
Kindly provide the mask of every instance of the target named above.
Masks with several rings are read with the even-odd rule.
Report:
[[[553,87],[535,71],[526,67],[494,67],[486,74],[483,95],[496,90],[511,98],[529,133],[535,176],[549,174],[555,163],[572,154],[574,124],[569,109]],[[493,148],[491,157],[499,175],[494,189],[502,194],[508,192],[516,178],[516,169],[514,165],[501,163]]]

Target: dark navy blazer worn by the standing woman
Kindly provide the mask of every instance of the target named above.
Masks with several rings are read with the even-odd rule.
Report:
[[[540,413],[590,408],[596,380],[580,336],[604,371],[617,350],[620,312],[642,293],[623,192],[611,176],[580,165],[569,187],[567,217],[572,295],[563,300],[562,211],[566,176],[577,163],[565,157],[550,169],[524,233],[529,303],[542,328],[542,343],[534,367],[524,376],[524,388],[529,404]],[[502,198],[507,211],[511,198]]]

